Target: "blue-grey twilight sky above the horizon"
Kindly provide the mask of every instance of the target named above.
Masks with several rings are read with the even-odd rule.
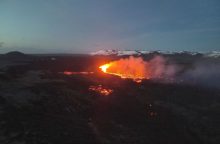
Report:
[[[220,0],[0,0],[0,53],[220,51]]]

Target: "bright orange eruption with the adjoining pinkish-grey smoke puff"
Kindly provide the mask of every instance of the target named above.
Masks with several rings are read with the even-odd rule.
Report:
[[[142,57],[122,58],[99,67],[104,73],[116,75],[123,79],[132,79],[141,82],[143,79],[164,79],[173,76],[177,68],[168,64],[161,56],[155,56],[149,61]]]

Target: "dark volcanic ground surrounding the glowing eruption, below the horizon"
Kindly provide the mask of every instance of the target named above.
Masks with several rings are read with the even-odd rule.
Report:
[[[219,144],[220,59],[164,57],[175,80],[136,83],[98,68],[118,56],[0,55],[0,144]]]

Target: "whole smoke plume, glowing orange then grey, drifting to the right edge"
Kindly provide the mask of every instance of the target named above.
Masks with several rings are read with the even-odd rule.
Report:
[[[148,61],[130,56],[110,62],[105,68],[106,73],[136,81],[152,79],[220,88],[220,62],[197,60],[192,62],[192,67],[188,67],[162,56],[155,56]]]

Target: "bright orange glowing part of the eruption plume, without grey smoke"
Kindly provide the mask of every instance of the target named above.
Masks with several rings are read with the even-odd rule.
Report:
[[[121,78],[133,79],[136,82],[141,82],[143,79],[149,79],[150,72],[148,65],[142,58],[133,56],[127,59],[120,59],[100,66],[99,68],[111,75],[120,76]]]

